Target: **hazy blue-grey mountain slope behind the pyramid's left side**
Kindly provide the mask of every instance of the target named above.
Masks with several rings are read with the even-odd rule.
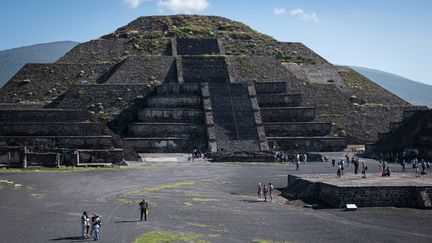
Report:
[[[73,41],[60,41],[0,51],[0,87],[26,63],[55,62],[78,44]]]

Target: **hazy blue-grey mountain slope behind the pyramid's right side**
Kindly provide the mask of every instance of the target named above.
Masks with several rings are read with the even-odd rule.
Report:
[[[432,108],[432,85],[375,69],[356,66],[350,68],[413,105]]]

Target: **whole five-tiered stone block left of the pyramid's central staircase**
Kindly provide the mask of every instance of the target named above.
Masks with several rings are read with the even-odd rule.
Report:
[[[129,124],[123,140],[138,153],[206,150],[207,135],[199,84],[156,87]]]

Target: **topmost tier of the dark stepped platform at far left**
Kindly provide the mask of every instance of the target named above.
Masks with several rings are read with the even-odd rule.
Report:
[[[0,122],[84,122],[87,111],[63,109],[0,110]]]

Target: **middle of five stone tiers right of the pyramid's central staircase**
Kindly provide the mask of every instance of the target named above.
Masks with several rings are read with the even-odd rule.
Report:
[[[266,122],[311,122],[315,120],[316,110],[311,107],[262,108],[261,115]]]

